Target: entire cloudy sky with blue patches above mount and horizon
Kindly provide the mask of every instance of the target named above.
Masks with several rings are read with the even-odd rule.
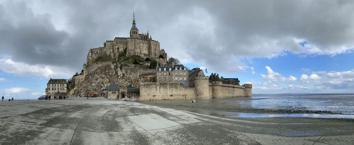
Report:
[[[169,57],[253,93],[354,92],[354,1],[3,1],[0,95],[38,98],[135,13]]]

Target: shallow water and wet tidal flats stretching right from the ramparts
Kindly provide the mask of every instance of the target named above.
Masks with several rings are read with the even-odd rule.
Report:
[[[152,101],[147,103],[224,117],[354,119],[354,94],[253,94],[252,97],[197,100],[195,103],[190,103],[189,100]],[[267,111],[262,112],[262,110],[273,111],[268,113]],[[279,113],[277,113],[278,111]],[[322,114],[316,114],[315,112]]]

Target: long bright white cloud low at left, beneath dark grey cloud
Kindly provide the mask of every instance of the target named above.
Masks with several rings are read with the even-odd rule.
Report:
[[[11,59],[0,59],[0,69],[6,73],[17,75],[36,75],[42,77],[52,77],[58,75],[71,76],[67,69],[60,67],[52,67],[47,65],[28,65],[25,63],[14,62]]]

